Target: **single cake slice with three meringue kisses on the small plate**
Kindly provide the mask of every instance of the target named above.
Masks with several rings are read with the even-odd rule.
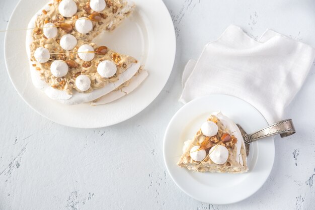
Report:
[[[198,172],[247,172],[245,143],[239,128],[222,113],[212,113],[194,139],[184,142],[177,165]]]

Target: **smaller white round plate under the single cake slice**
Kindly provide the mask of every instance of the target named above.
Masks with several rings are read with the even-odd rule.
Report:
[[[207,203],[228,204],[254,194],[268,178],[275,156],[272,137],[250,145],[249,171],[243,174],[199,173],[177,166],[184,141],[192,139],[212,112],[221,111],[248,133],[268,126],[249,103],[229,95],[208,95],[185,104],[172,118],[164,137],[164,161],[177,186],[189,196]]]

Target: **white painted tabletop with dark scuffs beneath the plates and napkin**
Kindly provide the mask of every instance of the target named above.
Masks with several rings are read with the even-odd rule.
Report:
[[[6,28],[17,2],[0,2],[0,30]],[[271,175],[252,197],[225,206],[188,197],[166,171],[162,143],[168,122],[182,106],[177,100],[183,67],[189,59],[198,58],[207,42],[217,39],[229,24],[236,24],[255,38],[271,28],[314,47],[315,2],[165,3],[177,34],[172,75],[148,108],[116,126],[80,130],[39,116],[15,91],[0,52],[0,209],[314,208],[315,64],[286,111],[297,134],[276,138]],[[4,33],[0,37],[3,40]]]

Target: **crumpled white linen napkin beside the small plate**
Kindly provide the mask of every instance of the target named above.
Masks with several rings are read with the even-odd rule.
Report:
[[[198,61],[187,63],[180,101],[233,95],[251,103],[272,124],[282,120],[314,58],[314,48],[272,30],[256,41],[231,25],[205,46]]]

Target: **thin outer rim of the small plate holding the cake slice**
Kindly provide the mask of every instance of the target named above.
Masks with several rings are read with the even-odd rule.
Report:
[[[187,194],[188,196],[194,198],[195,200],[198,200],[198,201],[201,201],[201,202],[205,202],[205,203],[209,203],[208,201],[206,200],[201,200],[201,199],[198,199],[194,194],[191,194],[190,192],[186,191],[185,189],[182,188],[182,186],[177,182],[177,180],[175,179],[175,177],[172,175],[172,173],[170,172],[170,168],[168,167],[168,163],[167,163],[167,160],[166,160],[166,137],[168,135],[168,133],[170,132],[170,127],[171,127],[171,124],[175,121],[175,118],[177,117],[178,113],[181,112],[181,110],[185,109],[185,107],[190,104],[190,103],[193,103],[194,101],[196,100],[201,100],[203,98],[207,98],[207,97],[210,97],[210,96],[228,96],[228,97],[233,97],[233,98],[237,98],[237,99],[240,99],[240,100],[243,100],[244,102],[248,103],[251,107],[253,107],[262,117],[263,119],[265,120],[265,122],[268,124],[267,120],[265,119],[265,117],[262,115],[262,113],[257,109],[255,108],[251,103],[247,102],[246,100],[240,98],[240,97],[237,97],[237,96],[233,96],[233,95],[228,95],[228,94],[208,94],[208,95],[204,95],[204,96],[200,96],[200,97],[197,97],[189,102],[187,102],[186,104],[184,104],[183,107],[181,107],[174,115],[173,117],[171,118],[166,130],[165,130],[165,135],[164,135],[164,139],[163,139],[163,159],[164,159],[164,164],[165,164],[165,167],[169,173],[169,175],[171,176],[172,180],[174,181],[174,183],[176,184],[176,186],[178,188],[180,188],[185,194]],[[268,176],[266,176],[264,178],[264,181],[260,184],[260,186],[256,189],[256,191],[253,191],[251,194],[247,195],[247,196],[244,196],[243,198],[241,199],[238,199],[237,201],[232,201],[232,202],[211,202],[211,204],[218,204],[218,205],[222,205],[222,204],[232,204],[232,203],[238,203],[238,202],[241,202],[249,197],[251,197],[253,194],[255,194],[267,181],[267,179],[269,178],[270,176],[270,173],[273,169],[273,166],[274,166],[274,162],[275,162],[275,144],[274,144],[274,139],[272,139],[272,144],[273,144],[273,158],[272,158],[272,165],[268,171]]]

